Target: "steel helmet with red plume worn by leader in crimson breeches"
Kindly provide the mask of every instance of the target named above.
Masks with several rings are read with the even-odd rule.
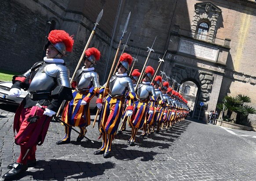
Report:
[[[44,46],[45,51],[51,43],[64,56],[66,56],[66,51],[72,52],[74,44],[73,35],[69,36],[64,30],[52,30],[48,35],[48,40],[49,42]]]

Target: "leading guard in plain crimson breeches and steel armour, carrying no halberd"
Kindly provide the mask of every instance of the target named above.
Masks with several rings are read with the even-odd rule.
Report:
[[[44,46],[46,57],[23,75],[14,76],[9,96],[19,96],[20,89],[28,90],[14,117],[15,144],[20,146],[20,156],[3,178],[18,177],[28,167],[37,165],[37,145],[42,145],[51,117],[59,110],[63,100],[71,100],[69,70],[62,56],[71,52],[73,36],[63,30],[52,30]],[[40,104],[42,108],[36,106]]]

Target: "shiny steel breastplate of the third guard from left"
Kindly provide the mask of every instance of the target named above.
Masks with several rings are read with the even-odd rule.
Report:
[[[110,78],[109,94],[111,96],[124,95],[127,87],[128,87],[128,77],[112,76]]]

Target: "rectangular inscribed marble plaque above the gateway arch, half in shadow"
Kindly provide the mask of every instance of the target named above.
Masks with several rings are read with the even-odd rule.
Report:
[[[187,53],[198,58],[212,61],[216,61],[219,55],[219,49],[217,48],[190,42],[185,39],[180,40],[178,52]]]

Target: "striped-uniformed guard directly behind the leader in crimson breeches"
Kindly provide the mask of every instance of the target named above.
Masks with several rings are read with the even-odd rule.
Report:
[[[89,103],[95,96],[99,86],[99,75],[95,72],[93,65],[100,58],[98,49],[92,47],[85,50],[84,66],[77,71],[76,77],[71,86],[73,89],[73,100],[66,103],[62,112],[62,121],[69,126],[78,126],[80,135],[77,137],[77,142],[80,142],[87,132],[86,127],[91,124],[91,116]],[[65,125],[65,136],[57,145],[70,143],[71,128]]]

